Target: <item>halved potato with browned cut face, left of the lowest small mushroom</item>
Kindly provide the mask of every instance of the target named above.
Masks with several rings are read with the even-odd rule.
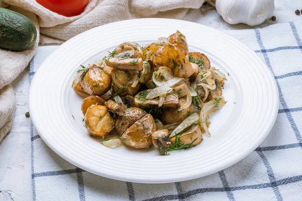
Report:
[[[146,149],[152,145],[152,133],[156,125],[152,115],[147,114],[129,127],[121,136],[122,142],[132,148]]]

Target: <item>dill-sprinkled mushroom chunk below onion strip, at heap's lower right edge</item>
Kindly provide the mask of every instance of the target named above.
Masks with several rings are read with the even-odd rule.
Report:
[[[170,139],[171,144],[175,144],[175,136]],[[198,145],[202,141],[202,132],[199,125],[193,125],[188,130],[180,134],[179,141],[181,144],[193,146]]]

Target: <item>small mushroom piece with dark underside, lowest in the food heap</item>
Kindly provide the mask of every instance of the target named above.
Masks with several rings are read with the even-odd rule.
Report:
[[[156,131],[152,134],[152,143],[155,148],[159,151],[160,155],[167,154],[169,139],[169,131],[167,129]]]

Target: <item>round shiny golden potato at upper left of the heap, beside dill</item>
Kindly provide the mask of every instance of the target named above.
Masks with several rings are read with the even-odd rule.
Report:
[[[103,95],[111,87],[111,77],[102,68],[93,66],[81,80],[81,86],[90,95]]]

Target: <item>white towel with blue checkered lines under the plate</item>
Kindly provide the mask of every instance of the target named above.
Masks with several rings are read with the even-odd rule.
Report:
[[[167,184],[132,183],[68,163],[47,147],[31,125],[34,200],[302,200],[302,21],[225,33],[255,50],[279,89],[276,123],[254,152],[206,177]],[[39,47],[31,62],[31,78],[57,47]]]

